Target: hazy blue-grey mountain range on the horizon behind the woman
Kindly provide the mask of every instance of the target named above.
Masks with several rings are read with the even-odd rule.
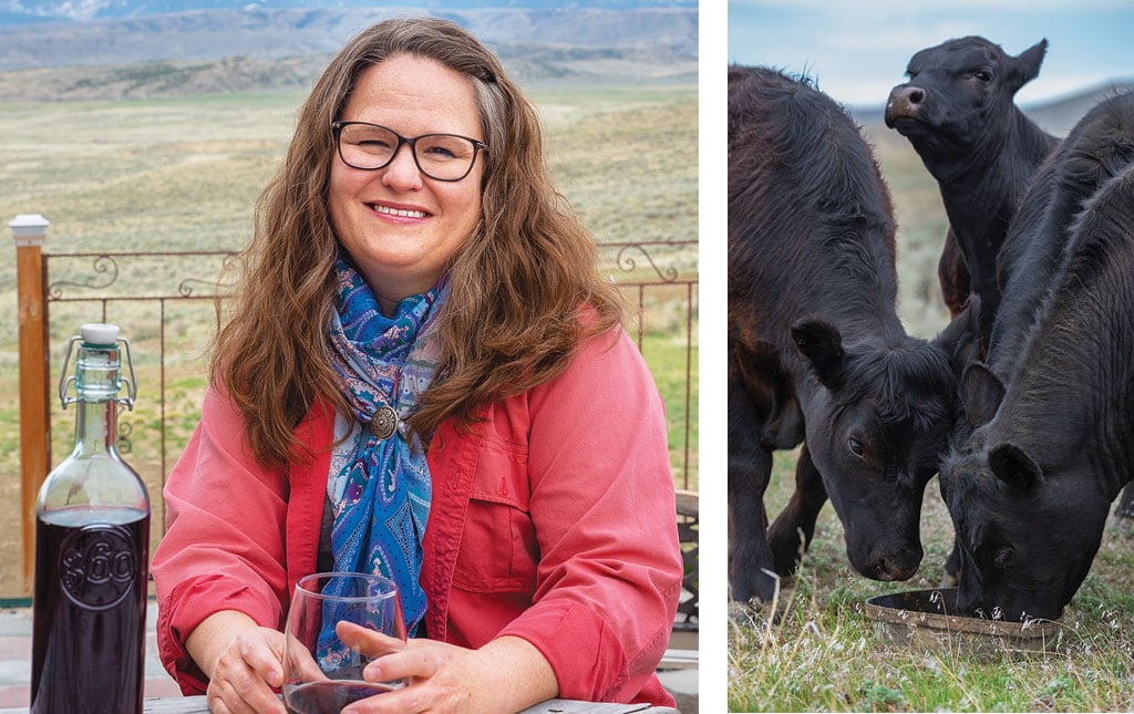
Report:
[[[16,5],[15,0],[0,1]],[[543,0],[526,1],[534,5]],[[22,7],[33,5],[31,0],[23,0]],[[62,7],[65,3],[41,0],[39,5]],[[145,3],[127,0],[73,0],[66,3],[76,8],[95,5],[104,11],[110,6]],[[159,3],[155,1],[153,5]],[[609,6],[613,2],[591,0],[591,5]],[[628,3],[624,1],[620,5]],[[432,14],[443,15],[467,27],[501,56],[507,51],[522,52],[518,48],[525,45],[542,48],[534,52],[536,61],[552,48],[560,53],[608,52],[611,59],[632,56],[635,61],[645,63],[676,62],[672,69],[677,71],[687,71],[687,65],[692,62],[695,73],[696,7],[456,9],[458,3],[454,2],[445,7],[445,10]],[[338,51],[355,33],[382,18],[425,12],[431,11],[421,8],[375,8],[373,3],[367,3],[365,8],[337,9],[248,6],[118,19],[7,25],[0,26],[0,71],[231,57],[265,60],[329,53]]]

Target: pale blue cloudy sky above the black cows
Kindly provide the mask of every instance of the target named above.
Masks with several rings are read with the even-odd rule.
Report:
[[[1134,79],[1134,0],[728,3],[729,62],[806,71],[850,105],[882,104],[914,52],[965,35],[982,35],[1009,54],[1048,40],[1040,76],[1016,95],[1021,104]]]

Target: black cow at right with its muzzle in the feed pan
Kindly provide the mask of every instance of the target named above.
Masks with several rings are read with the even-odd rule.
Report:
[[[1005,257],[990,364],[964,379],[974,431],[942,464],[941,492],[959,606],[1053,619],[1134,469],[1134,93],[1072,130],[1026,195]]]

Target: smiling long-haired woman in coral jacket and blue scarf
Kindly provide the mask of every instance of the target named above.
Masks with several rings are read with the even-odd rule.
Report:
[[[439,19],[363,32],[302,108],[154,554],[162,661],[213,712],[284,711],[321,570],[403,594],[415,636],[379,669],[412,683],[365,711],[672,704],[662,405],[541,144]]]

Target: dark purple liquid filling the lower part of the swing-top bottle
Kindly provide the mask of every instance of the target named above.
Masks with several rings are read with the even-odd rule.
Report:
[[[46,518],[35,524],[31,712],[141,712],[150,515],[83,507]]]

